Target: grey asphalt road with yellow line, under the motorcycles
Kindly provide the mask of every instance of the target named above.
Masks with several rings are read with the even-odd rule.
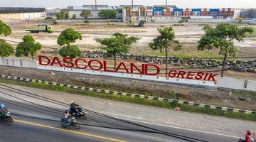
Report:
[[[5,88],[5,87],[4,87]],[[7,89],[7,88],[6,88]],[[169,126],[116,119],[94,111],[86,111],[88,119],[78,120],[78,131],[62,129],[59,119],[68,109],[63,104],[42,101],[14,89],[0,88],[4,102],[15,119],[10,126],[1,123],[1,142],[35,141],[238,141],[238,138],[219,136]],[[38,92],[40,95],[40,92]]]

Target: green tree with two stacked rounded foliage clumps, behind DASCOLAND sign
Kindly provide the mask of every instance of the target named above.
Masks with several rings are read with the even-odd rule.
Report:
[[[58,45],[67,45],[60,49],[59,53],[61,57],[77,58],[82,55],[82,52],[76,45],[70,45],[70,43],[75,43],[75,40],[82,40],[81,33],[74,31],[73,28],[68,28],[60,33],[58,37]]]

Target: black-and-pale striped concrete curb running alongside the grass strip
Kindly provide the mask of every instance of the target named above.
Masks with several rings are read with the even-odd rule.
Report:
[[[142,94],[131,94],[131,93],[124,93],[124,92],[116,92],[116,91],[110,91],[110,90],[105,90],[105,89],[97,89],[97,88],[90,88],[90,87],[81,87],[81,86],[75,86],[71,84],[60,84],[56,82],[47,82],[43,80],[32,80],[30,78],[25,78],[25,77],[12,77],[8,75],[1,75],[1,78],[7,79],[7,80],[18,80],[18,81],[23,81],[23,82],[38,82],[42,84],[50,84],[54,86],[60,86],[60,87],[68,87],[71,89],[80,89],[80,90],[85,90],[85,91],[90,91],[90,92],[98,92],[102,94],[117,94],[118,96],[127,96],[127,97],[137,97],[137,98],[142,98],[142,99],[149,99],[149,100],[157,100],[161,102],[174,102],[178,104],[186,104],[186,105],[191,105],[195,107],[204,107],[204,108],[209,108],[209,109],[217,109],[217,110],[222,110],[222,111],[230,111],[230,112],[240,112],[242,114],[256,114],[256,111],[251,111],[251,110],[245,110],[245,109],[235,109],[231,107],[219,107],[211,104],[201,104],[201,103],[196,103],[196,102],[187,102],[183,100],[178,100],[178,99],[168,99],[168,98],[161,98],[161,97],[151,97],[151,96],[146,96]]]

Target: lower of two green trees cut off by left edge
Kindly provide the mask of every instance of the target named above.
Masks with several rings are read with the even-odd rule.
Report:
[[[14,55],[14,48],[6,43],[5,40],[0,39],[0,56],[1,58],[9,57],[10,55]]]

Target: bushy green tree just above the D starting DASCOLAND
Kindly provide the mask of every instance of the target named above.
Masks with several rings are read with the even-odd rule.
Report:
[[[18,43],[16,48],[16,57],[20,58],[22,55],[29,56],[33,59],[33,56],[41,50],[42,45],[35,41],[32,35],[25,35],[23,37],[23,42]]]

